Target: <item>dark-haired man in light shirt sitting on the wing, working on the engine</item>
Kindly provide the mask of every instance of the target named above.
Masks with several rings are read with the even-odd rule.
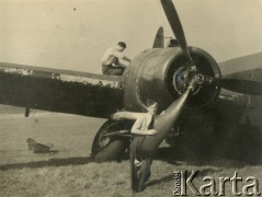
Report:
[[[109,48],[102,57],[102,72],[109,76],[122,76],[126,66],[119,62],[119,59],[130,62],[123,51],[126,49],[124,42],[117,43],[115,47]]]

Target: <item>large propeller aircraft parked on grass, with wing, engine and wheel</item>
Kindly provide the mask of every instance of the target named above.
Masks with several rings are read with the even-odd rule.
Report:
[[[164,47],[160,27],[152,48],[139,53],[123,77],[1,62],[0,103],[25,107],[25,116],[36,108],[106,118],[92,144],[92,155],[102,161],[123,155],[136,113],[151,99],[166,113],[143,151],[152,153],[166,139],[184,154],[237,159],[246,154],[248,161],[258,161],[261,67],[250,70],[247,65],[221,77],[207,51],[187,46],[172,1],[161,0],[161,4],[176,39]],[[122,120],[111,118],[116,111]]]

